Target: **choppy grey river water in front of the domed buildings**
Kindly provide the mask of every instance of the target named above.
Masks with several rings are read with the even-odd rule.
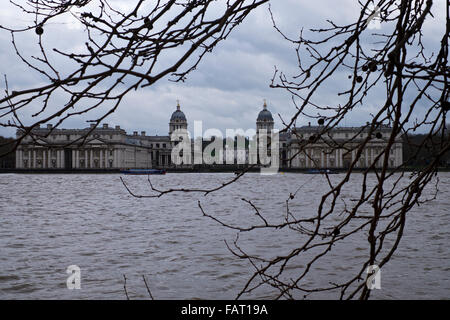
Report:
[[[248,174],[208,196],[136,199],[119,177],[0,175],[0,299],[125,299],[123,275],[131,299],[148,298],[143,275],[156,299],[233,299],[252,269],[225,246],[236,232],[204,217],[198,200],[209,214],[249,225],[258,220],[241,198],[251,200],[268,219],[282,219],[290,192],[303,186],[292,203],[301,214],[314,210],[326,186],[320,175]],[[136,193],[150,192],[146,176],[124,178]],[[161,188],[206,188],[232,178],[228,173],[179,173],[153,176],[152,182]],[[450,173],[439,179],[437,199],[408,215],[405,236],[383,267],[382,289],[374,298],[450,297]],[[354,186],[346,191],[348,199],[357,196],[359,184]],[[331,259],[317,264],[309,284],[351,276],[352,261],[367,255],[366,239],[363,234],[355,240],[360,244],[337,247]],[[268,257],[295,248],[298,240],[292,232],[241,236],[248,253]],[[66,268],[74,264],[81,268],[80,290],[66,287]],[[295,274],[295,266],[289,271]],[[266,288],[246,298],[274,294]],[[334,299],[336,294],[317,297]]]

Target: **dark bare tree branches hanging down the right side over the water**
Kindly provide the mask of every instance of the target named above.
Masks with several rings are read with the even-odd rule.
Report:
[[[432,0],[379,0],[355,2],[360,6],[358,19],[350,24],[338,25],[332,21],[328,28],[302,30],[298,39],[291,39],[272,22],[286,41],[295,46],[299,74],[289,77],[275,69],[272,88],[286,90],[292,95],[295,113],[289,120],[280,117],[284,124],[282,131],[291,132],[299,153],[317,143],[326,146],[327,152],[343,149],[353,152],[354,158],[345,174],[336,181],[327,173],[324,177],[328,190],[324,190],[315,212],[296,212],[290,207],[298,196],[301,186],[286,195],[284,212],[280,221],[271,221],[258,209],[251,199],[243,199],[259,218],[259,223],[243,226],[233,225],[206,212],[199,201],[198,206],[204,216],[237,231],[236,240],[227,243],[229,250],[237,257],[248,260],[254,267],[237,298],[245,297],[262,286],[273,287],[275,298],[292,299],[298,294],[308,296],[317,292],[336,292],[340,299],[368,299],[365,273],[369,266],[383,267],[396,252],[404,234],[407,214],[414,206],[434,199],[426,197],[424,190],[434,186],[434,195],[439,191],[435,178],[438,166],[450,150],[449,134],[446,131],[446,116],[450,110],[448,39],[450,31],[449,2],[442,25],[441,41],[436,50],[430,50],[430,43],[424,32],[424,22],[434,19]],[[377,17],[380,29],[370,28]],[[436,36],[436,35],[434,35]],[[342,88],[328,87],[327,81],[338,80]],[[347,81],[345,81],[347,80]],[[337,105],[323,106],[320,94],[326,87],[328,95],[335,95]],[[372,120],[347,141],[333,139],[334,129],[342,125],[344,119],[352,115],[358,106],[370,102],[373,93],[377,110],[371,114]],[[330,103],[331,104],[331,103]],[[317,133],[311,139],[304,139],[296,130],[300,117],[318,120]],[[380,130],[389,126],[389,135]],[[419,131],[423,139],[411,141],[409,134]],[[364,133],[362,139],[361,133]],[[389,155],[397,139],[411,146],[410,157],[401,165],[392,167]],[[384,147],[362,172],[356,172],[357,163],[364,156],[364,150],[373,139],[384,141]],[[406,173],[407,164],[421,153],[427,154],[427,164]],[[306,153],[308,154],[308,153]],[[314,161],[313,158],[310,159]],[[377,165],[378,164],[378,165]],[[318,164],[316,164],[318,165]],[[229,182],[237,181],[242,175]],[[350,179],[350,178],[355,178]],[[370,181],[376,183],[370,183]],[[356,181],[356,182],[355,182]],[[122,181],[124,182],[124,181]],[[436,182],[434,185],[431,182]],[[152,194],[138,197],[160,197],[172,192],[200,192],[209,194],[222,186],[209,190],[189,188],[161,190],[154,187],[149,179]],[[342,195],[349,183],[359,183],[359,196],[352,203],[346,203]],[[431,184],[430,184],[431,183]],[[320,191],[322,192],[322,191]],[[364,209],[364,210],[363,210]],[[367,213],[369,212],[369,213]],[[242,233],[258,233],[272,229],[275,232],[294,230],[299,234],[298,245],[288,254],[267,258],[245,252],[239,242]],[[367,244],[367,257],[358,271],[340,283],[330,283],[326,287],[306,285],[307,276],[316,263],[329,254],[334,246],[345,243],[357,235]],[[295,277],[286,277],[290,264],[295,259],[307,261],[303,268],[297,267]]]

